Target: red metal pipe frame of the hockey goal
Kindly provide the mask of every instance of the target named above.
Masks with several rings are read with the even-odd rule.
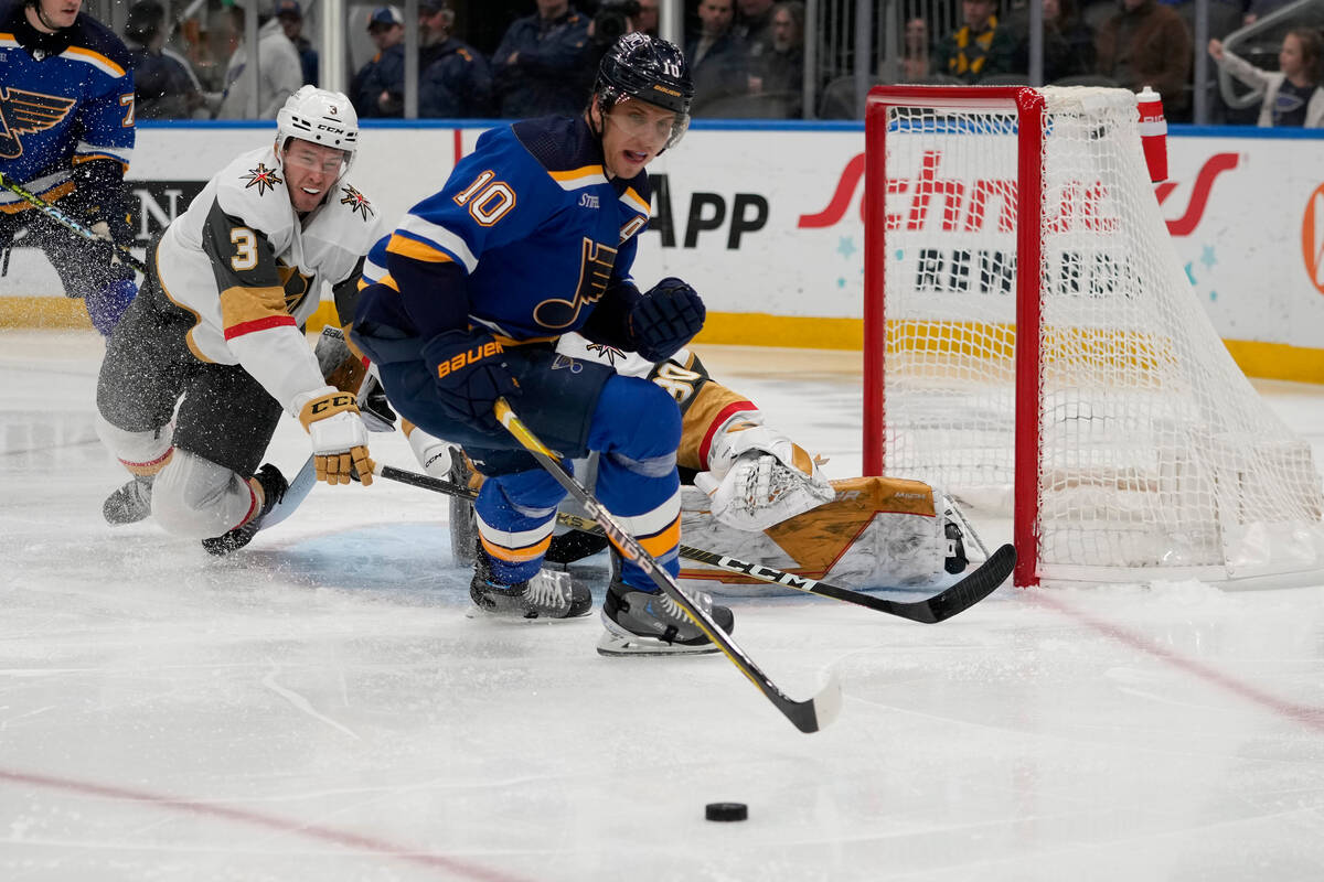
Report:
[[[887,111],[891,107],[1016,111],[1016,428],[1012,541],[1018,587],[1039,583],[1039,287],[1043,280],[1043,95],[1023,86],[875,86],[865,106],[863,473],[887,468]],[[873,417],[871,419],[869,417]]]

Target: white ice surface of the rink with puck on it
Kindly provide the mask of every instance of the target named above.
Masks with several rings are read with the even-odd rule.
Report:
[[[5,882],[1324,878],[1321,587],[1002,588],[939,625],[732,600],[789,694],[843,676],[802,735],[722,656],[466,618],[425,491],[318,487],[229,559],[107,528],[99,348],[0,332]],[[858,353],[702,353],[858,472]],[[1260,389],[1324,459],[1324,394]]]

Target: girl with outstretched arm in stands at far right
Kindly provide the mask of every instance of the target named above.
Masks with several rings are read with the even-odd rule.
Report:
[[[1287,32],[1278,52],[1278,70],[1260,70],[1223,49],[1219,40],[1209,41],[1209,54],[1219,67],[1262,94],[1256,126],[1324,126],[1324,89],[1319,85],[1324,38],[1313,28]]]

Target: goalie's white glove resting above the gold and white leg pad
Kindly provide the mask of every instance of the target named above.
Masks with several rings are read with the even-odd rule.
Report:
[[[813,458],[767,426],[727,427],[712,442],[708,468],[694,485],[712,500],[712,516],[751,533],[835,499]]]

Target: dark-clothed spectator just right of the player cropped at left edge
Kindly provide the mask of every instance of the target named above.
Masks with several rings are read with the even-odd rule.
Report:
[[[138,119],[188,119],[204,107],[203,87],[188,62],[166,49],[166,7],[156,0],[130,7],[124,46],[134,65]]]

